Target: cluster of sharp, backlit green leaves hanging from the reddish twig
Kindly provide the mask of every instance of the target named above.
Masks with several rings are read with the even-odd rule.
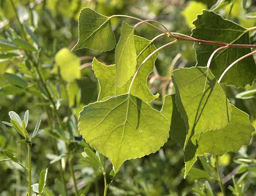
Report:
[[[115,36],[110,19],[84,8],[79,17],[80,37],[74,49],[113,49]],[[192,36],[197,39],[249,44],[247,29],[214,12],[204,11],[194,24]],[[197,156],[207,152],[221,156],[249,144],[254,131],[249,116],[229,103],[217,78],[231,62],[249,53],[250,49],[222,50],[216,54],[209,69],[204,66],[216,46],[195,44],[197,65],[173,72],[175,94],[165,97],[159,112],[149,105],[156,96],[150,93],[146,84],[157,55],[153,55],[139,70],[139,75],[135,75],[155,46],[152,41],[135,36],[134,30],[133,26],[122,23],[121,37],[115,47],[115,65],[93,60],[93,70],[101,88],[98,102],[85,106],[79,117],[81,135],[91,147],[111,160],[115,171],[125,160],[159,150],[169,134],[184,150],[184,176]],[[216,33],[212,33],[215,30]],[[231,69],[223,82],[236,86],[251,84],[256,78],[255,69],[255,62],[250,57]],[[133,77],[135,82],[131,83]]]

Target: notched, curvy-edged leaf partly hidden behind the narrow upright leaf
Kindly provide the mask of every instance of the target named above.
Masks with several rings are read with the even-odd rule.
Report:
[[[136,36],[135,40],[135,49],[137,53],[137,65],[136,69],[141,65],[142,61],[153,51],[155,51],[155,46],[150,40]],[[138,72],[135,77],[131,94],[141,98],[145,102],[151,102],[155,98],[158,98],[159,94],[153,95],[147,86],[147,78],[149,73],[153,72],[155,59],[157,58],[158,53],[155,53],[152,58],[148,59],[148,61],[141,67],[140,72]],[[97,59],[93,60],[92,68],[96,77],[98,78],[100,84],[100,92],[98,96],[98,101],[104,100],[104,98],[108,98],[117,95],[125,94],[128,92],[128,88],[131,84],[132,78],[128,81],[126,85],[122,87],[117,86],[117,91],[115,91],[115,65],[104,65],[99,62]]]

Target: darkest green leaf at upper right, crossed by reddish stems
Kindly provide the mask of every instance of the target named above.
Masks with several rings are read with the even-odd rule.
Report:
[[[249,33],[246,28],[223,19],[220,15],[207,10],[197,16],[194,21],[195,29],[192,30],[192,37],[209,41],[218,41],[229,44],[250,44]],[[206,66],[212,52],[220,46],[195,43],[197,65]],[[210,69],[218,79],[222,72],[236,59],[251,52],[249,48],[230,47],[223,49],[214,56]],[[256,78],[256,65],[252,56],[239,61],[224,76],[222,82],[227,85],[243,87],[251,84]]]

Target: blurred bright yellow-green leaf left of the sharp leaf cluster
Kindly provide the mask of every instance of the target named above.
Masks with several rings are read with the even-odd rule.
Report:
[[[81,78],[80,59],[74,55],[68,48],[62,48],[55,55],[55,62],[61,69],[61,77],[72,82],[74,79]]]

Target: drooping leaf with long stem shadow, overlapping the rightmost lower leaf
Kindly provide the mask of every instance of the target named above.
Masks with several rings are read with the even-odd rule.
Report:
[[[230,121],[231,107],[221,86],[206,67],[173,72],[178,110],[187,127],[184,149],[194,134],[215,130]]]

